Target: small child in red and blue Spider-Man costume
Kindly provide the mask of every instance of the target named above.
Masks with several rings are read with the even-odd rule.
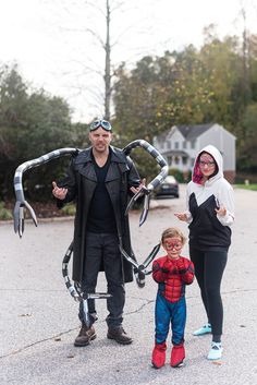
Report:
[[[156,298],[156,334],[151,363],[159,369],[166,363],[167,337],[172,328],[170,364],[182,366],[185,358],[184,329],[186,320],[185,285],[194,279],[193,263],[181,256],[185,237],[176,228],[168,228],[161,236],[161,244],[167,252],[152,263],[152,278],[158,282]]]

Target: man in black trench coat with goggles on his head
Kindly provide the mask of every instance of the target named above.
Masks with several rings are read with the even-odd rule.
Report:
[[[73,250],[73,280],[83,292],[95,292],[97,276],[105,270],[109,314],[107,337],[127,345],[132,338],[122,327],[125,303],[124,282],[133,280],[132,265],[122,258],[119,244],[131,253],[127,216],[124,216],[130,194],[140,189],[140,179],[133,161],[122,149],[110,145],[111,124],[97,120],[90,124],[91,147],[78,153],[72,160],[64,187],[52,183],[52,194],[59,203],[76,202]],[[60,202],[62,201],[62,202]],[[95,301],[88,300],[90,325],[83,321],[74,345],[87,346],[96,338],[94,322],[97,320]]]

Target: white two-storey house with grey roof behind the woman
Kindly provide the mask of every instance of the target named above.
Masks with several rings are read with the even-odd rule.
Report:
[[[218,123],[173,125],[155,136],[152,144],[166,158],[169,168],[183,173],[192,170],[197,153],[208,144],[216,146],[223,156],[224,176],[233,183],[235,178],[236,137]]]

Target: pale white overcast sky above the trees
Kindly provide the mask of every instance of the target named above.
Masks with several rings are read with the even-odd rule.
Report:
[[[19,64],[26,82],[62,96],[74,121],[102,113],[99,95],[103,49],[86,28],[105,39],[106,0],[0,0],[0,62]],[[213,23],[220,37],[242,35],[241,9],[257,33],[257,0],[110,0],[120,4],[111,17],[112,63],[131,67],[145,55],[162,55],[203,44],[203,28]],[[121,4],[122,3],[122,4]]]

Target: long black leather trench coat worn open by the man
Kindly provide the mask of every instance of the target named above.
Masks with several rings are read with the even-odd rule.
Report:
[[[139,183],[138,172],[131,158],[126,157],[122,149],[111,147],[111,163],[106,177],[106,187],[113,206],[120,243],[130,255],[131,237],[128,216],[125,216],[124,213],[131,197],[130,188],[138,187]],[[84,258],[86,257],[87,216],[96,184],[97,177],[93,166],[91,148],[87,148],[74,157],[68,177],[62,183],[59,183],[60,187],[68,188],[66,197],[64,201],[59,201],[59,206],[71,201],[75,201],[76,203],[72,278],[79,284],[82,281]],[[130,282],[133,280],[132,265],[122,255],[121,262],[123,281]]]

